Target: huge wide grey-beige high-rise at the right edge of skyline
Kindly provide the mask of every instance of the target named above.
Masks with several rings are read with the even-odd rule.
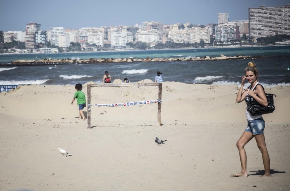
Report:
[[[251,38],[290,35],[290,5],[249,8],[249,33]]]

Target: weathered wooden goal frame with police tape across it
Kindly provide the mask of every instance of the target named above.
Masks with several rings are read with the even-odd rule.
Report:
[[[91,104],[91,88],[101,88],[101,87],[124,87],[124,86],[158,86],[158,99],[161,100],[162,96],[162,83],[102,83],[102,84],[88,84],[88,104]],[[88,128],[90,126],[90,111],[88,110]],[[161,125],[161,103],[158,103],[158,112],[157,112],[157,124]]]

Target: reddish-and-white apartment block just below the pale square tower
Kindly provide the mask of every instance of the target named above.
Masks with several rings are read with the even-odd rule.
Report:
[[[215,27],[215,41],[226,42],[229,40],[239,40],[240,30],[236,24],[220,24]]]

